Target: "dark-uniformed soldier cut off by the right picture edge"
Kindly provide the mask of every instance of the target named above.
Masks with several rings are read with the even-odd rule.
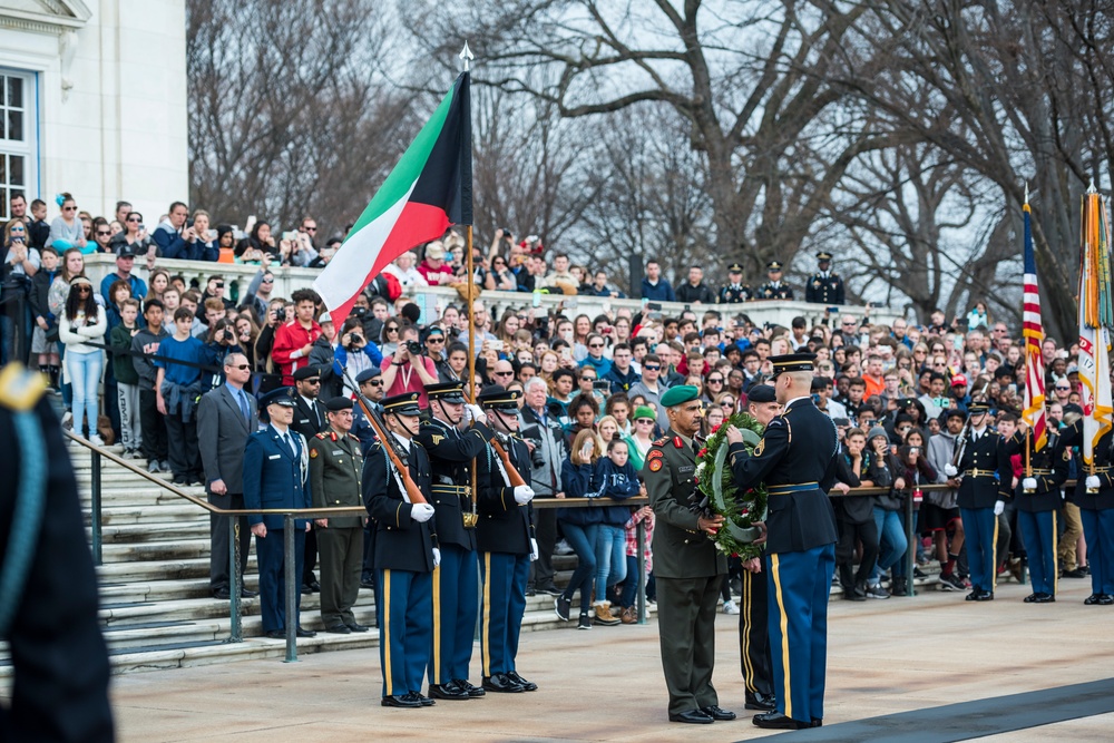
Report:
[[[1061,431],[1062,446],[1082,447],[1083,419]],[[1094,471],[1078,459],[1078,481],[1068,496],[1079,508],[1091,565],[1087,606],[1114,604],[1114,431],[1106,431],[1094,448]]]

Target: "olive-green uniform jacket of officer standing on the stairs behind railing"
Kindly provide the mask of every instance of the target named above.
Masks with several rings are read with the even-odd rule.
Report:
[[[314,508],[363,506],[360,439],[332,429],[310,438],[310,492]],[[362,516],[334,516],[329,528],[363,527]]]

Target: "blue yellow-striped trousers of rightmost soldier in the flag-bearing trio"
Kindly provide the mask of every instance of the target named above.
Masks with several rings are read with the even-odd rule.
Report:
[[[526,613],[526,579],[529,555],[480,553],[483,595],[480,620],[480,653],[483,676],[517,671],[518,635]]]

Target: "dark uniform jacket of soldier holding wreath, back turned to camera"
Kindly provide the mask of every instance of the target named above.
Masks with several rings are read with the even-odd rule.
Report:
[[[766,507],[766,548],[799,553],[838,538],[828,491],[836,483],[836,426],[808,398],[795,400],[766,426],[753,456],[731,444],[731,473],[741,489],[765,483],[800,486],[771,493]],[[809,487],[811,485],[811,487]]]

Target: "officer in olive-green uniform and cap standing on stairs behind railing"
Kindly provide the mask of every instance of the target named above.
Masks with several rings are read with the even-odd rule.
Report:
[[[333,398],[325,402],[325,411],[329,429],[310,439],[313,507],[359,508],[363,506],[360,486],[363,454],[360,440],[351,433],[352,401]],[[352,614],[360,593],[365,520],[355,515],[319,518],[314,522],[321,555],[321,620],[325,632],[338,635],[368,632]]]

